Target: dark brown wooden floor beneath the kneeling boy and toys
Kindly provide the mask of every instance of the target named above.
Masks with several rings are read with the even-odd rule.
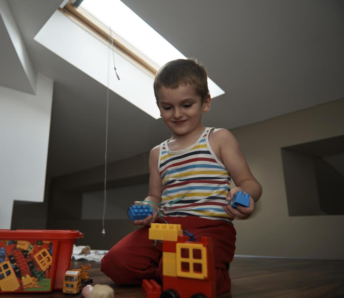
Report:
[[[86,264],[87,262],[83,262]],[[72,262],[78,268],[80,262]],[[114,269],[115,270],[115,269]],[[142,297],[141,287],[120,287],[100,272],[100,264],[92,263],[89,276],[94,284],[108,284],[116,298]],[[344,297],[344,261],[267,259],[235,257],[230,264],[232,290],[218,297]],[[62,291],[43,294],[3,294],[10,297],[82,297]]]

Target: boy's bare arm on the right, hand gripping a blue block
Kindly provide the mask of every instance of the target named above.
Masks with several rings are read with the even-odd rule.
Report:
[[[227,129],[214,131],[213,139],[218,144],[221,159],[236,187],[228,192],[226,197],[230,201],[238,191],[250,195],[249,207],[227,205],[224,207],[226,213],[234,218],[247,219],[254,211],[255,203],[260,198],[261,186],[252,175],[248,164],[240,150],[238,141]]]

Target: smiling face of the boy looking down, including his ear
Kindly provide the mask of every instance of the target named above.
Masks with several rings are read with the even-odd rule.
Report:
[[[177,89],[160,87],[157,105],[165,125],[174,134],[186,135],[201,124],[202,113],[210,109],[211,98],[208,94],[202,103],[201,96],[195,93],[190,84],[180,85]]]

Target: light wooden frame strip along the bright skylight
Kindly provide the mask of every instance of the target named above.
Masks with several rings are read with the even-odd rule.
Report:
[[[87,32],[98,38],[101,42],[105,43],[107,46],[111,46],[109,45],[110,28],[82,7],[75,7],[72,4],[72,0],[69,0],[62,9],[58,8],[58,10],[80,27],[84,28]],[[143,55],[138,49],[130,45],[114,31],[111,31],[111,35],[114,43],[114,50],[139,69],[146,72],[150,77],[154,78],[160,68],[159,65],[155,64],[147,56]]]

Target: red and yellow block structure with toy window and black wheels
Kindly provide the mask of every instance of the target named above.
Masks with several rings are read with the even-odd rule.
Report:
[[[163,280],[144,279],[144,298],[215,298],[216,279],[211,237],[201,242],[183,236],[181,225],[152,223],[149,239],[163,241]]]

